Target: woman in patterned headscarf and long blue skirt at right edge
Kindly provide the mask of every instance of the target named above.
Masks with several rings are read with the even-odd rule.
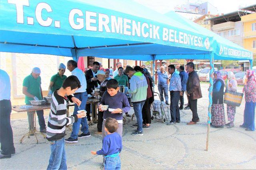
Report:
[[[247,70],[247,82],[244,85],[244,123],[240,127],[245,127],[246,131],[255,131],[255,106],[256,106],[256,80],[253,70]]]

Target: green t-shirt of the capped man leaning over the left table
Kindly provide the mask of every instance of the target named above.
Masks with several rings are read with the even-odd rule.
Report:
[[[25,86],[28,88],[28,92],[32,94],[33,96],[36,96],[39,100],[42,100],[41,96],[41,77],[39,76],[38,78],[34,78],[32,74],[29,76],[26,76],[23,80],[22,86]],[[34,100],[33,98],[30,98],[28,96],[25,97],[25,103],[26,104],[31,104],[29,101]]]

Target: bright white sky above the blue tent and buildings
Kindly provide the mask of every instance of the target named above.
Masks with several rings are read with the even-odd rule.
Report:
[[[188,0],[134,0],[148,8],[151,8],[161,14],[174,10],[177,5],[186,4]],[[210,2],[218,9],[219,14],[227,14],[237,11],[239,7],[250,6],[256,4],[256,0],[189,0],[189,2]]]

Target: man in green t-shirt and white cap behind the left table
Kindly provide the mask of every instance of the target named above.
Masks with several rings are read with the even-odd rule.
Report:
[[[42,100],[42,88],[41,88],[41,70],[38,67],[34,67],[30,75],[26,76],[23,80],[22,93],[25,94],[25,103],[30,104],[30,100]],[[38,123],[40,126],[40,132],[46,133],[46,125],[44,121],[44,110],[36,111],[38,116]],[[32,112],[28,111],[28,122],[33,120]],[[34,129],[30,127],[29,129]]]

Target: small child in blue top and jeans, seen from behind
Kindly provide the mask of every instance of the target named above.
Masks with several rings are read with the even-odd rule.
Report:
[[[107,118],[105,122],[105,131],[108,135],[102,140],[102,149],[91,151],[92,154],[104,155],[104,169],[114,170],[121,168],[120,152],[122,150],[122,138],[116,133],[118,122],[116,119]]]

